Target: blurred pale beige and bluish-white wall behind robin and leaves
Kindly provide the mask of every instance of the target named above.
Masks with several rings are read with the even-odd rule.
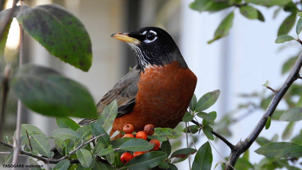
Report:
[[[246,98],[239,97],[240,94],[251,94],[255,91],[263,92],[263,95],[272,94],[261,86],[266,80],[269,80],[274,89],[281,86],[286,78],[281,75],[282,64],[289,56],[299,52],[298,43],[288,43],[291,47],[285,50],[280,50],[282,45],[274,43],[278,27],[288,16],[286,12],[280,12],[273,20],[274,7],[259,8],[265,17],[265,22],[260,22],[243,18],[238,15],[239,9],[235,9],[229,36],[207,44],[229,11],[199,13],[189,8],[191,2],[193,0],[25,0],[24,3],[30,6],[56,3],[75,14],[88,30],[93,53],[92,67],[88,72],[82,72],[51,56],[25,33],[25,61],[51,67],[80,82],[88,88],[97,103],[128,72],[129,67],[136,64],[136,58],[127,44],[111,38],[110,35],[130,32],[139,27],[157,26],[165,29],[174,38],[189,68],[197,75],[197,98],[209,91],[220,89],[217,103],[207,110],[217,111],[217,120],[221,119],[223,114],[233,111],[238,104],[247,102]],[[294,35],[293,30],[289,34]],[[282,107],[281,103],[278,108]],[[233,144],[245,139],[263,113],[262,110],[252,112],[240,118],[241,121],[233,123],[230,129],[233,136],[227,139]],[[240,114],[244,112],[239,113],[238,117]],[[13,116],[7,119],[14,122]],[[76,118],[74,120],[79,121]],[[41,116],[32,111],[24,111],[22,121],[39,127],[48,136],[58,128],[55,118]],[[268,139],[276,133],[280,136],[280,131],[284,130],[285,125],[273,121],[270,129],[263,130],[260,136],[266,136]],[[181,126],[184,127],[184,124]],[[204,135],[197,138],[198,149],[207,139]],[[230,149],[226,144],[219,140],[212,143],[223,157],[229,156]],[[182,143],[178,147],[186,147],[184,133]],[[252,162],[263,158],[253,152],[258,147],[254,143],[250,149]],[[212,152],[213,169],[222,158],[213,147]],[[191,163],[193,159],[192,156]],[[178,169],[189,169],[188,160],[176,165]]]

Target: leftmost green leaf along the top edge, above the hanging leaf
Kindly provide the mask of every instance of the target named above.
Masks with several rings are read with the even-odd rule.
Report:
[[[190,8],[193,10],[202,11],[220,11],[222,9],[231,7],[232,5],[228,2],[216,2],[211,0],[195,0],[195,2],[190,4]]]

